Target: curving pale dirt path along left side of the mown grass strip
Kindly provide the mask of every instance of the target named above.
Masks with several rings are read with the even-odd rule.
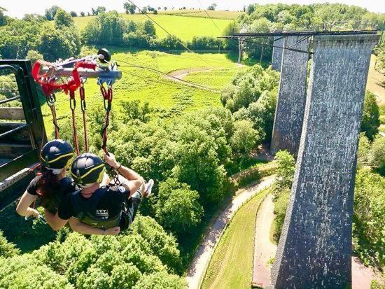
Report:
[[[195,253],[193,262],[190,265],[186,280],[188,281],[188,288],[197,289],[200,288],[200,284],[203,281],[204,274],[211,259],[211,255],[214,253],[214,246],[219,241],[219,237],[225,225],[229,222],[232,216],[235,214],[239,206],[244,204],[247,199],[253,197],[258,192],[265,190],[272,185],[274,177],[265,178],[257,185],[253,185],[251,188],[244,190],[239,195],[236,195],[232,202],[226,207],[225,211],[221,213],[216,219],[213,225],[204,236],[200,247]]]

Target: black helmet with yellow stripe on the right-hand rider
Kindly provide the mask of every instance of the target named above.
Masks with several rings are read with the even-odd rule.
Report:
[[[83,153],[76,157],[72,163],[71,175],[78,185],[83,187],[100,183],[103,179],[104,163],[93,153]]]

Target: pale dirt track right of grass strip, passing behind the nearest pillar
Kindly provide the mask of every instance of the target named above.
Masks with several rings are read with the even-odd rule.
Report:
[[[276,245],[269,240],[269,232],[274,220],[274,203],[272,195],[266,197],[258,211],[255,222],[253,284],[269,285],[270,269],[267,262],[274,258]],[[370,289],[373,279],[382,280],[381,273],[372,267],[365,267],[357,258],[351,258],[352,289]]]

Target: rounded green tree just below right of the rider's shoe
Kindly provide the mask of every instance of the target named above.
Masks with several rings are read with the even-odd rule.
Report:
[[[166,229],[183,234],[202,220],[203,208],[198,199],[198,192],[189,185],[168,178],[160,183],[156,216]]]

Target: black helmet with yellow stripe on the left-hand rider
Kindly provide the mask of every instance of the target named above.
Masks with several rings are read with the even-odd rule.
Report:
[[[41,161],[49,169],[69,167],[73,158],[72,146],[62,139],[48,141],[41,150]]]

